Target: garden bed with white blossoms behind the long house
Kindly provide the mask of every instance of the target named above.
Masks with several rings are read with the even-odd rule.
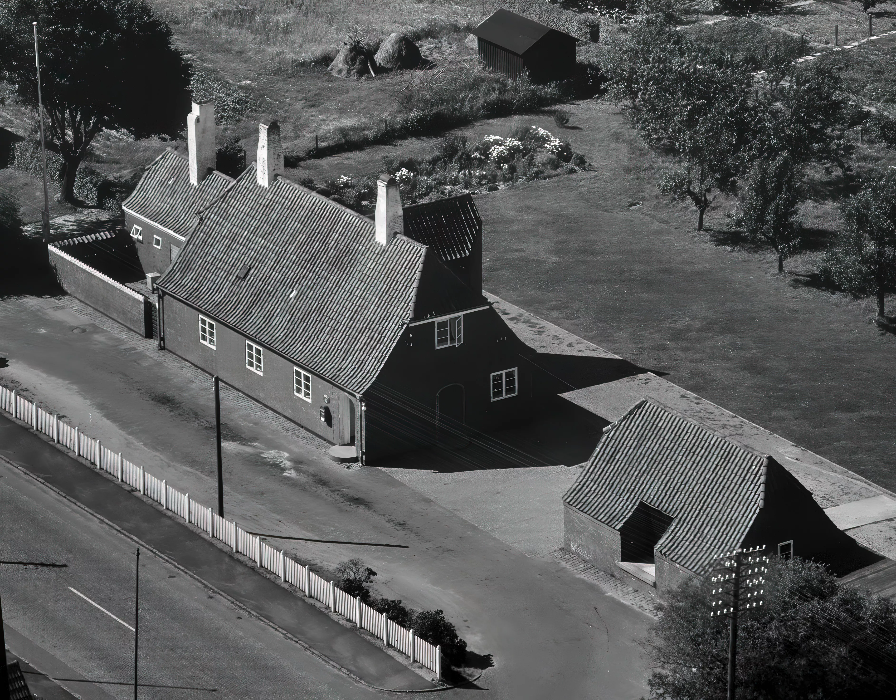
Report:
[[[574,173],[586,166],[584,156],[574,153],[569,142],[539,126],[518,126],[507,137],[489,135],[473,144],[462,134],[452,134],[439,141],[435,152],[424,160],[383,159],[383,169],[394,173],[406,204],[494,191],[514,182]],[[315,188],[314,180],[302,184]],[[339,177],[316,189],[357,212],[373,212],[374,177]]]

